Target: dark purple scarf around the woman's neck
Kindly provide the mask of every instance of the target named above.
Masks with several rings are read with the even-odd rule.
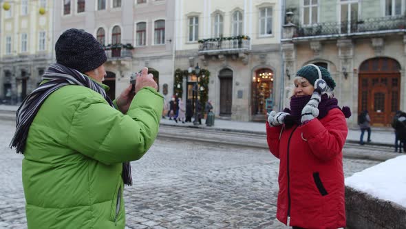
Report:
[[[286,127],[289,128],[295,124],[301,124],[301,110],[303,110],[304,106],[306,106],[306,104],[310,100],[310,97],[312,96],[307,95],[301,97],[292,97],[292,99],[290,99],[290,109],[284,109],[284,112],[288,112],[290,114],[285,117]],[[338,103],[339,101],[336,98],[329,99],[327,94],[322,94],[321,101],[319,103],[319,106],[317,107],[319,109],[319,116],[317,117],[317,119],[323,119],[323,117],[325,117],[333,108],[339,108],[346,118],[351,117],[350,108],[344,106],[343,109],[341,109],[338,106]]]

